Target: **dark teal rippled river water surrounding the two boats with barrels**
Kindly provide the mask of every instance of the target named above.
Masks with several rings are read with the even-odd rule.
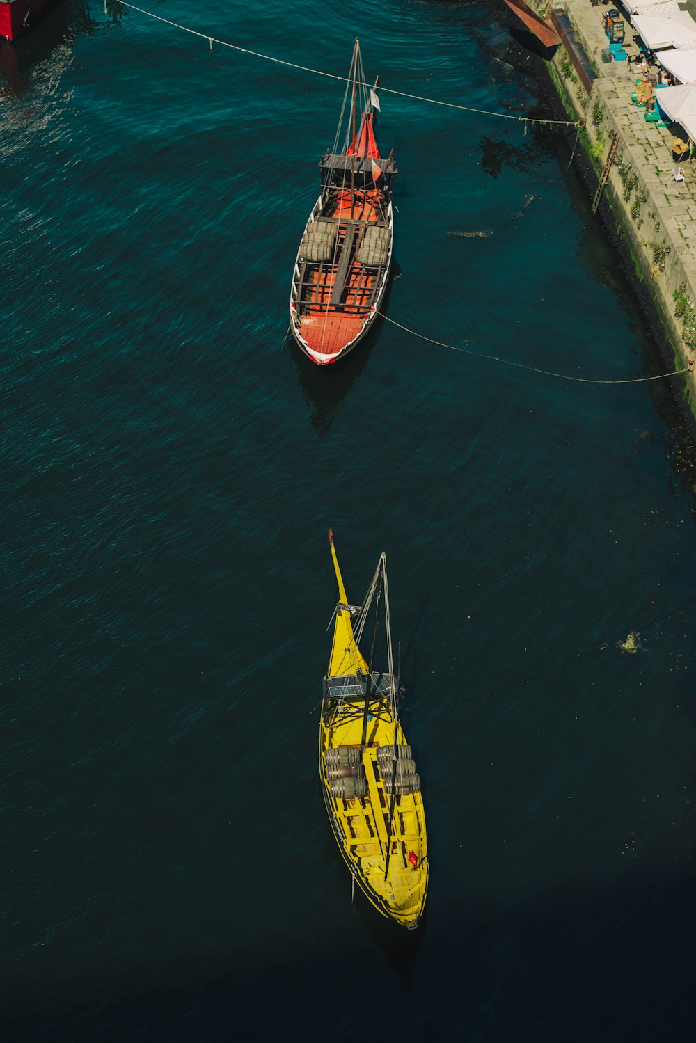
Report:
[[[384,87],[558,115],[502,7],[151,9],[337,74],[359,34]],[[695,479],[667,386],[389,323],[318,370],[287,300],[339,83],[83,0],[0,63],[5,1038],[693,1039]],[[391,318],[664,370],[572,134],[382,105]],[[415,935],[352,905],[319,792],[330,525],[353,600],[388,556]]]

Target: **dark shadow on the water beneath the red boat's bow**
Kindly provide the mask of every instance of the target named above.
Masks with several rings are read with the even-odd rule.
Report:
[[[394,278],[401,274],[399,263],[394,260],[391,264],[389,281],[384,293],[381,306],[386,314],[391,288]],[[311,421],[319,438],[323,438],[331,431],[336,410],[346,397],[354,384],[360,380],[367,361],[371,355],[376,342],[379,340],[384,328],[384,319],[378,316],[370,330],[367,331],[363,340],[356,348],[330,366],[315,366],[295,343],[292,334],[288,331],[285,336],[285,346],[288,348],[290,357],[297,366],[297,379],[310,407],[313,408]]]

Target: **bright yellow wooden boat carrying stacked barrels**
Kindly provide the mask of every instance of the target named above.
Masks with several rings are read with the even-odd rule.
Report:
[[[349,605],[333,532],[338,580],[334,639],[323,681],[319,772],[329,818],[349,869],[380,913],[416,927],[428,893],[428,840],[421,778],[399,721],[386,555],[362,606]],[[369,664],[358,642],[375,600]],[[387,672],[376,672],[380,603],[384,601]]]

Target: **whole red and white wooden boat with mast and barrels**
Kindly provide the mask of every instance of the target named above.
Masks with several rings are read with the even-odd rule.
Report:
[[[342,359],[364,337],[387,286],[397,167],[393,149],[384,160],[377,147],[379,107],[377,83],[369,88],[364,81],[356,40],[336,141],[319,162],[321,192],[305,227],[290,292],[292,335],[318,366]]]

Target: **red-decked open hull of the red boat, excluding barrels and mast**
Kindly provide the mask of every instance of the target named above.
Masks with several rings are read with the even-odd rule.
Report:
[[[365,200],[369,197],[369,193],[359,195]],[[382,222],[388,228],[388,256],[386,263],[379,267],[364,265],[357,260],[361,235],[370,224],[380,223],[373,219],[374,213],[374,208],[366,201],[359,210],[339,204],[327,211],[322,197],[319,196],[305,226],[307,233],[318,220],[326,220],[331,214],[329,220],[338,227],[338,250],[334,263],[322,265],[307,262],[302,257],[301,245],[292,276],[292,336],[304,354],[318,366],[330,365],[344,358],[363,339],[379,314],[393,253],[391,202],[386,207],[386,222]],[[353,217],[358,220],[353,221]],[[350,264],[342,269],[344,251],[350,251],[351,258]],[[341,283],[339,292],[336,292],[337,278]]]

